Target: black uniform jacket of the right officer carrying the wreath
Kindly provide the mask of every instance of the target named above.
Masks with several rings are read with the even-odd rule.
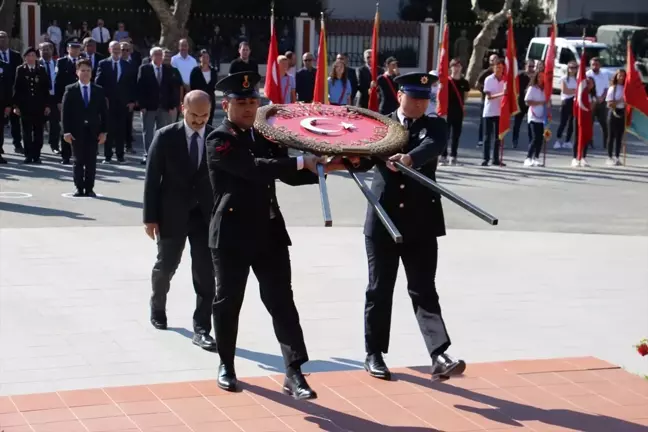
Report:
[[[390,116],[400,123],[396,112]],[[412,168],[436,180],[438,157],[447,145],[447,126],[441,117],[423,116],[409,129],[410,139],[403,153],[412,157]],[[358,171],[375,166],[371,191],[403,235],[403,242],[427,242],[445,235],[441,197],[416,180],[393,172],[382,159],[363,159]],[[367,207],[364,234],[374,240],[393,241],[373,207]]]

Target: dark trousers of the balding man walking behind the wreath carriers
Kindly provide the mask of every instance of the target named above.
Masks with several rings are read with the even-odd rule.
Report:
[[[189,227],[186,236],[160,238],[157,242],[157,260],[151,272],[153,287],[151,311],[156,313],[166,310],[171,279],[180,265],[187,239],[189,239],[191,252],[191,275],[196,292],[196,309],[193,315],[194,332],[209,334],[215,291],[214,269],[208,245],[209,226],[199,207],[191,210],[189,214]]]

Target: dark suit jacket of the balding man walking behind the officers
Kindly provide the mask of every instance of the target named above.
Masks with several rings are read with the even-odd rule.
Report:
[[[213,131],[205,127],[205,142]],[[170,124],[155,134],[149,148],[144,180],[144,223],[157,223],[162,238],[186,236],[189,214],[199,207],[209,224],[213,207],[207,171],[207,152],[198,169],[191,166],[184,121]]]

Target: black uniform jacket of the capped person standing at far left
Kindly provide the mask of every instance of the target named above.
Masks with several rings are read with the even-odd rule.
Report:
[[[50,77],[39,63],[32,70],[26,64],[19,66],[14,81],[13,104],[20,109],[21,115],[44,116],[50,102],[50,87]]]

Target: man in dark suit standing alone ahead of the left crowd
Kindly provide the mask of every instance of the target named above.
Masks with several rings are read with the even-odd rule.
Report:
[[[92,64],[88,59],[76,62],[79,81],[65,88],[63,94],[63,139],[74,155],[75,197],[96,197],[97,146],[106,142],[108,106],[104,90],[92,83]]]

